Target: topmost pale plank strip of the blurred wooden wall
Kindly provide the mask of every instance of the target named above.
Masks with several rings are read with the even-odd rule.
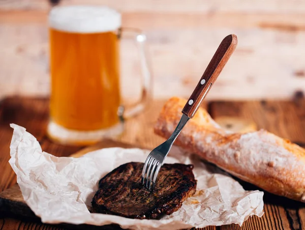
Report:
[[[188,12],[188,13],[212,13],[212,12],[265,12],[265,13],[302,13],[305,11],[305,3],[303,1],[289,1],[289,0],[237,0],[226,1],[219,0],[216,3],[208,0],[189,0],[188,4],[185,2],[177,2],[175,0],[133,0],[128,4],[124,4],[124,0],[69,0],[58,1],[60,5],[73,5],[73,4],[94,4],[94,5],[107,5],[118,9],[121,12]],[[50,7],[49,1],[41,0],[6,0],[1,2],[0,9],[35,9],[45,10]]]

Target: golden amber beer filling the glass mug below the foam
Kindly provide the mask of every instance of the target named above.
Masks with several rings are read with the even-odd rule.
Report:
[[[118,122],[118,40],[113,32],[80,34],[50,28],[50,116],[74,130]]]

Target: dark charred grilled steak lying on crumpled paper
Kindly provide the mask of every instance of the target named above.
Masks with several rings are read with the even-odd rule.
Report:
[[[99,182],[93,197],[94,212],[136,219],[160,219],[177,211],[196,191],[193,165],[162,165],[153,191],[141,184],[143,163],[115,168]]]

